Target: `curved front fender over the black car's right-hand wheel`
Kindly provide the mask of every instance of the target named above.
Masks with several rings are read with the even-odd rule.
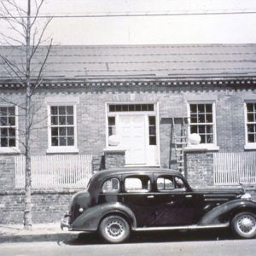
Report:
[[[199,221],[198,225],[218,224],[218,218],[225,213],[234,212],[243,208],[250,208],[256,213],[256,202],[248,200],[234,200],[214,207],[211,211],[207,212]]]

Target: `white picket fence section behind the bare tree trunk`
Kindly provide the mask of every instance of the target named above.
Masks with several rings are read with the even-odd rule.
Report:
[[[85,188],[92,176],[92,155],[32,156],[32,188]],[[25,186],[25,157],[15,157],[15,187]]]

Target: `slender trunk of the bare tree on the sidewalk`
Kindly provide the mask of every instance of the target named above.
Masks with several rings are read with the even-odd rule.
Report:
[[[24,209],[24,229],[32,229],[32,175],[31,175],[31,150],[30,150],[30,131],[31,131],[31,0],[27,0],[26,18],[26,128],[25,128],[25,209]]]

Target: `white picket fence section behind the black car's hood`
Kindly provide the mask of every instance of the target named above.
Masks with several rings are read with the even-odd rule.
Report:
[[[213,172],[216,185],[255,184],[256,152],[214,153]]]

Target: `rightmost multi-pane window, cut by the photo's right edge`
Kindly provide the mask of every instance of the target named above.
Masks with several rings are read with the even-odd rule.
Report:
[[[256,143],[256,102],[246,103],[247,143]]]

